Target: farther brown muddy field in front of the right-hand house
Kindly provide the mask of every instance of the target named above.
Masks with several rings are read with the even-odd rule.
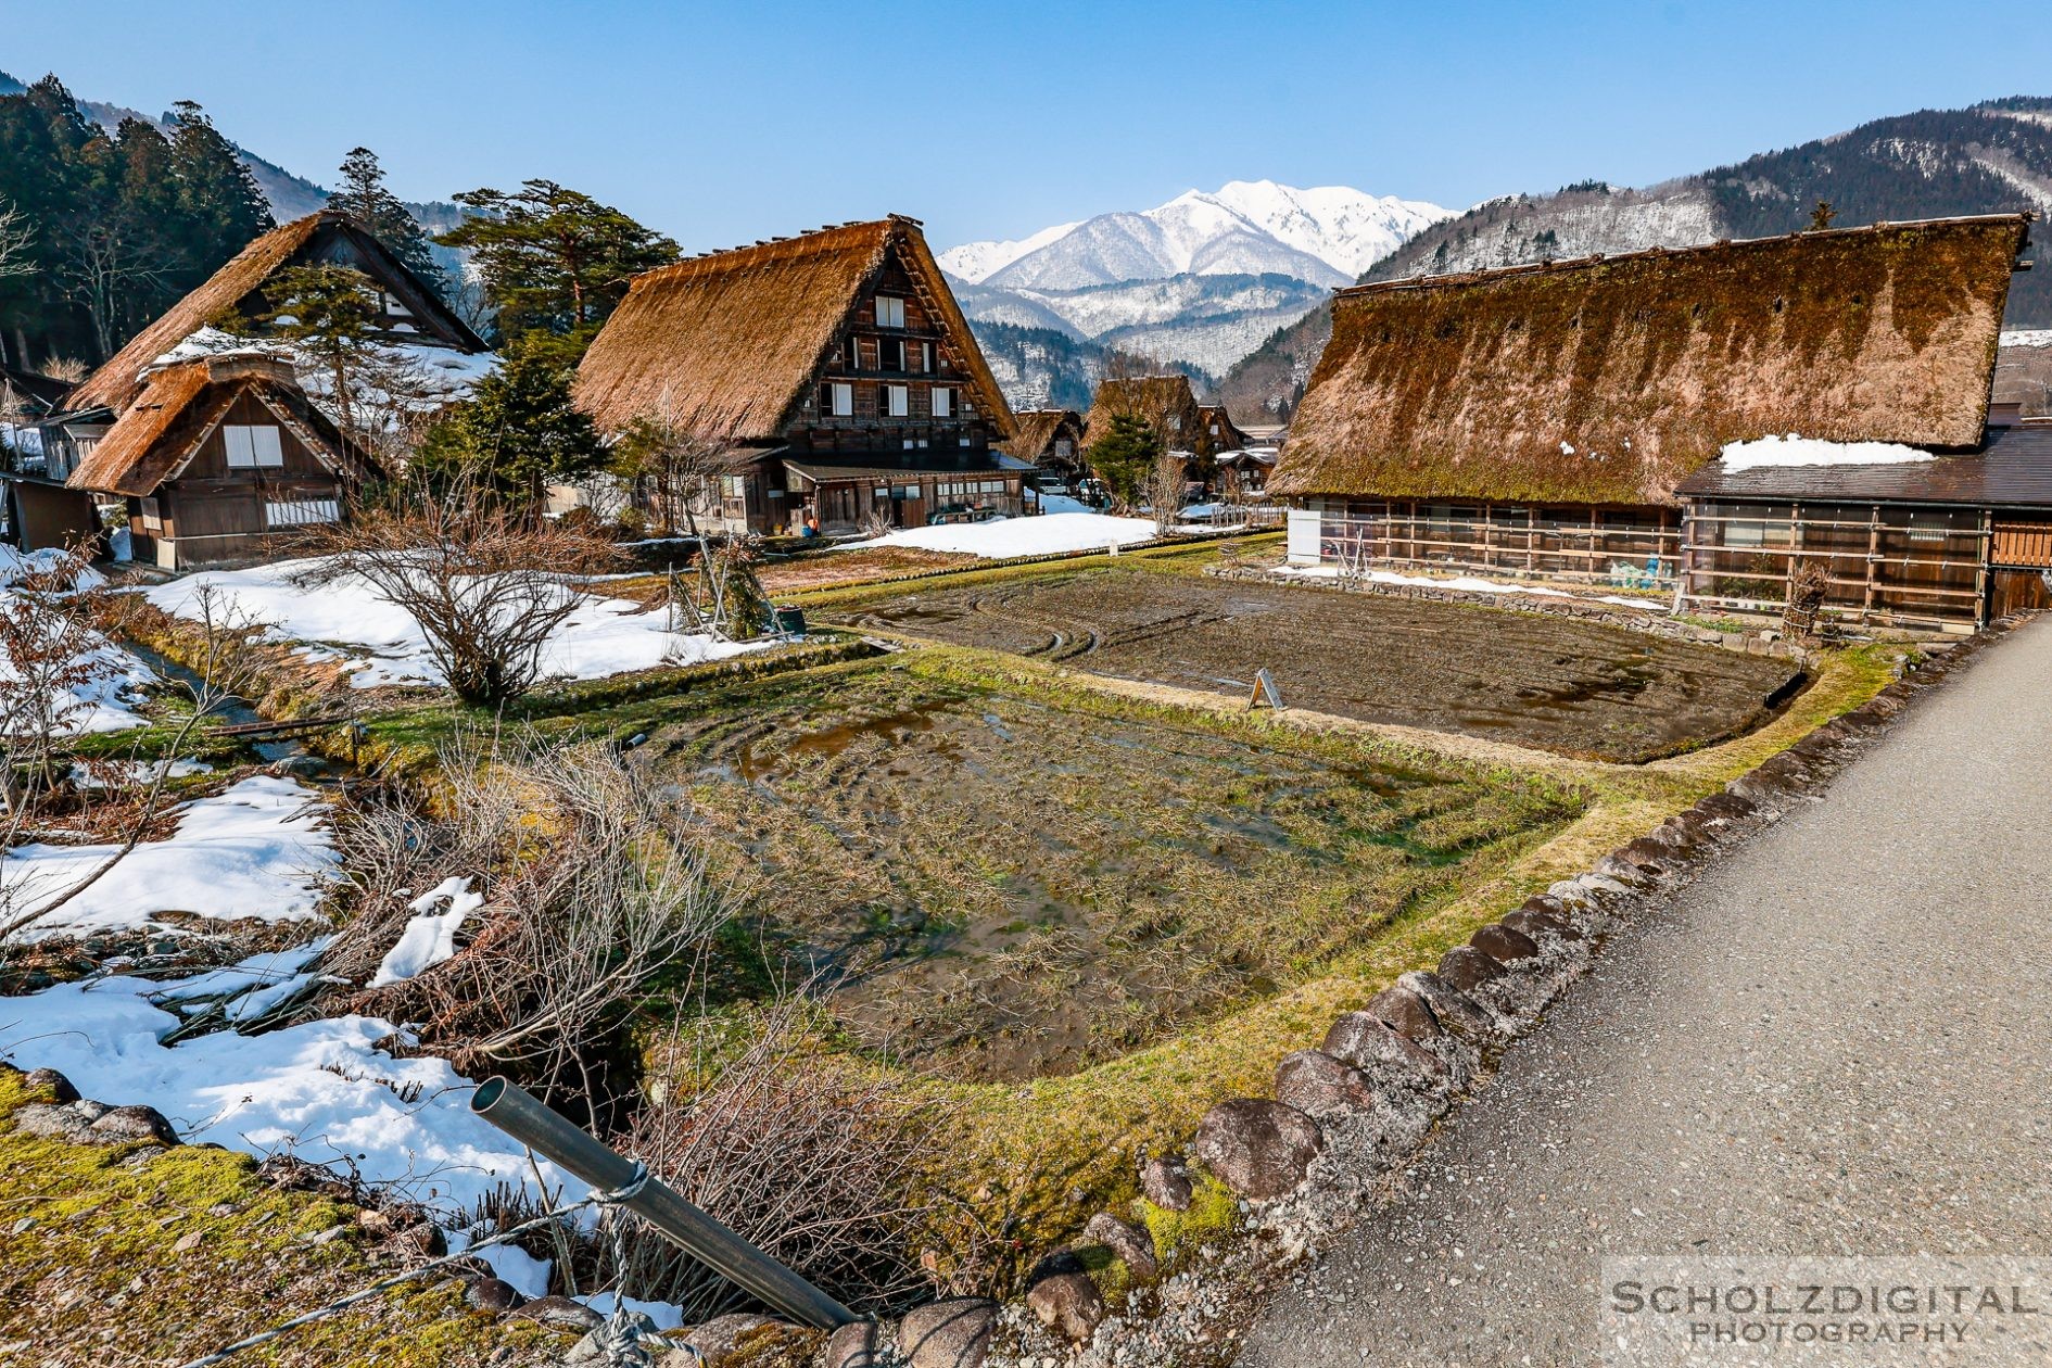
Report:
[[[1147,570],[913,589],[843,617],[1239,697],[1266,667],[1285,706],[1611,761],[1754,726],[1796,677],[1564,617]]]

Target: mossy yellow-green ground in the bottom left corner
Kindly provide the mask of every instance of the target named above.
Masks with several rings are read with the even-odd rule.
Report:
[[[31,1101],[49,1097],[0,1071],[0,1362],[187,1362],[402,1268],[367,1247],[355,1206],[283,1192],[246,1155],[181,1146],[140,1159],[137,1144],[31,1136],[14,1128]],[[334,1226],[349,1233],[312,1243]],[[429,1276],[244,1358],[511,1366],[554,1362],[566,1343],[474,1313],[460,1284]]]

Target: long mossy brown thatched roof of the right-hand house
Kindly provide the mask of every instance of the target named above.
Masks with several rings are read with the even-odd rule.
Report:
[[[1342,289],[1278,494],[1662,502],[1728,441],[1980,441],[2019,213]]]

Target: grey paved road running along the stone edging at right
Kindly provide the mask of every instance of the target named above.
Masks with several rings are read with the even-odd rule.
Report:
[[[1613,939],[1241,1362],[1596,1364],[1619,1255],[2042,1255],[2048,755],[2052,619]]]

